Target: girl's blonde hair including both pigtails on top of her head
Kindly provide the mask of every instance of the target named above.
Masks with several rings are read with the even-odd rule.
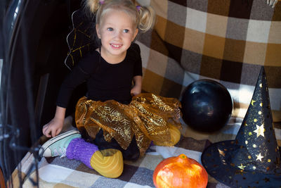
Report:
[[[155,23],[155,11],[151,6],[136,6],[131,0],[85,0],[86,11],[96,15],[96,24],[100,25],[108,9],[117,9],[131,15],[133,23],[141,32],[146,32]]]

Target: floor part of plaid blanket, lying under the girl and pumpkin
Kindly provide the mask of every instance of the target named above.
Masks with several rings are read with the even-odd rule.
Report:
[[[152,175],[155,167],[164,158],[178,156],[184,153],[189,158],[194,158],[201,163],[201,154],[211,142],[234,139],[242,123],[242,118],[230,118],[228,125],[223,130],[203,134],[191,130],[183,123],[181,140],[173,147],[150,146],[143,158],[137,161],[124,161],[123,174],[110,179],[99,175],[96,170],[91,170],[83,163],[67,158],[42,158],[38,163],[38,173],[35,168],[35,158],[32,153],[27,153],[25,158],[13,172],[13,186],[19,187],[19,175],[22,175],[22,187],[33,187],[32,180],[39,177],[39,187],[155,187]],[[281,125],[275,124],[277,142],[281,146]],[[31,171],[30,171],[31,170]],[[27,173],[30,175],[27,176]],[[207,187],[227,187],[209,176]]]

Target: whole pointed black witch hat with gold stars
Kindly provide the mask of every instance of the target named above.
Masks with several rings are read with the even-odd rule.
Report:
[[[211,144],[201,161],[209,175],[230,187],[281,187],[280,154],[262,67],[235,140]]]

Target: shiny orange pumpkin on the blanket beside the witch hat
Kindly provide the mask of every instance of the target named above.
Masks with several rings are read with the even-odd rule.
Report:
[[[157,188],[206,187],[207,171],[185,154],[164,159],[154,170],[153,182]]]

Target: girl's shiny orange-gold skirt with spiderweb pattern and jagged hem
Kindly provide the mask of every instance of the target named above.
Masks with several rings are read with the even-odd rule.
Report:
[[[86,130],[95,139],[100,128],[107,142],[112,138],[127,149],[133,135],[141,156],[150,146],[171,146],[170,126],[181,128],[179,118],[181,103],[178,99],[166,98],[150,93],[133,96],[130,104],[117,101],[93,101],[86,96],[79,99],[75,121],[79,130]]]

